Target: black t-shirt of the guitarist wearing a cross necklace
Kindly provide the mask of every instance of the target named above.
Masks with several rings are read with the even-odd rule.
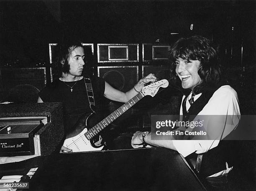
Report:
[[[95,102],[103,96],[105,91],[105,81],[98,77],[91,77]],[[65,84],[66,83],[66,84]],[[47,84],[39,92],[39,96],[44,102],[62,102],[64,114],[64,127],[69,131],[79,118],[90,112],[90,105],[85,89],[84,79],[77,81],[63,82],[59,79]],[[71,88],[72,87],[72,92]]]

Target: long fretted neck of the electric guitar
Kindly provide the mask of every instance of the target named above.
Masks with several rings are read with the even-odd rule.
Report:
[[[90,130],[88,130],[86,133],[84,133],[85,137],[88,140],[91,140],[94,136],[96,136],[100,131],[102,131],[105,127],[107,127],[111,122],[116,120],[119,116],[121,116],[124,112],[126,112],[128,109],[130,109],[134,104],[136,104],[139,100],[141,100],[144,97],[144,95],[140,92],[136,96],[134,96],[132,99],[130,99],[128,102],[123,104],[121,107],[119,107],[117,110],[115,110],[113,113],[108,115],[104,120],[97,123],[94,127],[92,127]]]

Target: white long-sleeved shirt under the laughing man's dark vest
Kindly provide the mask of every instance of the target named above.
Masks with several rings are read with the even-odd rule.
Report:
[[[191,95],[189,96],[191,97]],[[195,95],[194,100],[198,99],[200,96],[201,94]],[[185,96],[183,96],[182,102],[184,98]],[[189,110],[190,107],[188,100],[189,97],[186,100],[187,110]],[[183,115],[182,106],[180,107],[180,115]],[[220,87],[214,92],[194,121],[200,120],[200,115],[209,115],[209,118],[213,117],[212,115],[216,115],[216,117],[221,116],[221,119],[217,120],[215,123],[211,123],[205,129],[207,133],[212,135],[212,140],[173,140],[175,148],[184,157],[194,152],[200,154],[215,148],[218,146],[220,140],[236,129],[240,121],[240,109],[236,91],[229,85]],[[225,116],[227,116],[227,120],[224,120]],[[207,124],[207,122],[204,122],[204,124]],[[218,132],[218,134],[216,134],[216,132]]]

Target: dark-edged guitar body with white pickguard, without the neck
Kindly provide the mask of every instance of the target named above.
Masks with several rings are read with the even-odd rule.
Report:
[[[75,125],[75,129],[69,132],[66,136],[63,146],[72,149],[73,152],[97,151],[102,150],[104,145],[96,146],[95,139],[87,140],[84,134],[88,131],[89,121],[94,113],[84,115],[83,125]],[[102,142],[99,136],[98,142]],[[95,145],[96,144],[96,145]]]

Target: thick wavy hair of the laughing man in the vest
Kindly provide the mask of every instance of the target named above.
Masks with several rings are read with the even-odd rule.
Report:
[[[195,94],[215,89],[219,86],[222,74],[220,59],[208,38],[202,36],[180,38],[172,46],[169,56],[172,61],[173,72],[175,72],[176,68],[174,63],[179,58],[200,61],[197,72],[202,81],[193,89]]]

